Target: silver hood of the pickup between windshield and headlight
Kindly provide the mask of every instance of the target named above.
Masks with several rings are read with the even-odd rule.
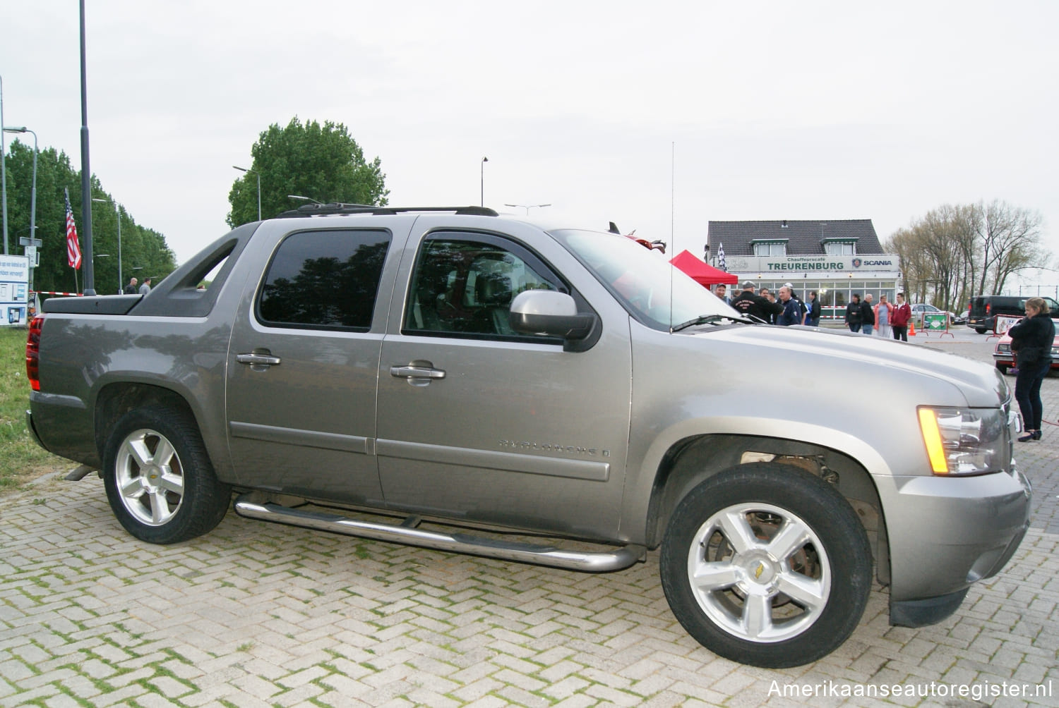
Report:
[[[885,340],[843,330],[765,325],[700,330],[696,338],[723,339],[748,347],[744,351],[770,351],[772,361],[783,361],[820,376],[886,377],[913,374],[951,384],[966,399],[964,404],[992,407],[1006,401],[1007,382],[995,367],[919,344]],[[889,377],[886,377],[889,378]]]

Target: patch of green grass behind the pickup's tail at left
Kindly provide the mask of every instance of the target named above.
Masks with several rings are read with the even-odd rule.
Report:
[[[46,452],[25,430],[25,334],[21,327],[0,327],[0,494],[23,489],[48,472],[76,467]]]

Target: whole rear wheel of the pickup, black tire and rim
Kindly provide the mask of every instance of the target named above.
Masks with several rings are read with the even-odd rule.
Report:
[[[130,411],[103,455],[107,500],[141,541],[178,543],[212,530],[232,490],[217,480],[202,436],[186,415],[166,407]]]

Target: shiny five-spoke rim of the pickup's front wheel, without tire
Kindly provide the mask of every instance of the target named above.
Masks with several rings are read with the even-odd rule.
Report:
[[[755,642],[797,636],[824,612],[830,563],[812,528],[769,504],[721,509],[695,533],[687,578],[702,611]]]

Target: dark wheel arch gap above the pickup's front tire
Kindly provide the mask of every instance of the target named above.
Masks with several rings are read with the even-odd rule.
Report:
[[[868,535],[879,581],[890,582],[885,518],[872,475],[846,453],[797,440],[711,434],[686,437],[670,446],[651,488],[646,528],[648,547],[661,544],[677,505],[704,479],[739,465],[762,461],[797,467],[834,485]]]

